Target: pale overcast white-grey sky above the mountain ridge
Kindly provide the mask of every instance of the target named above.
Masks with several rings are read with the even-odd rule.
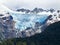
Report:
[[[60,0],[0,0],[0,3],[4,4],[10,9],[33,9],[43,8],[43,9],[60,9]]]

